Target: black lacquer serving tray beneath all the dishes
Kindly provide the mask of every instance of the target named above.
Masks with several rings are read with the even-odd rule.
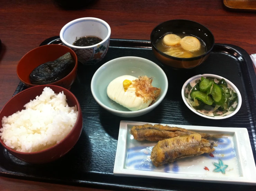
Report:
[[[41,45],[61,44],[58,36],[45,40]],[[105,111],[91,94],[91,78],[107,61],[138,56],[152,60],[161,66],[168,78],[168,92],[162,103],[152,112],[131,121],[245,127],[256,159],[256,76],[247,52],[234,45],[216,44],[209,58],[199,67],[189,70],[173,70],[163,66],[153,55],[150,41],[111,39],[106,57],[97,65],[79,65],[77,78],[71,92],[80,102],[83,112],[83,131],[74,148],[61,159],[48,164],[28,164],[20,161],[0,146],[0,174],[11,178],[51,183],[79,185],[108,190],[207,190],[207,191],[255,191],[256,186],[231,185],[132,178],[113,175],[119,123],[126,118]],[[229,79],[239,89],[243,103],[238,113],[224,120],[211,120],[190,111],[181,97],[181,88],[190,77],[198,74],[216,74]],[[20,83],[15,94],[25,89]]]

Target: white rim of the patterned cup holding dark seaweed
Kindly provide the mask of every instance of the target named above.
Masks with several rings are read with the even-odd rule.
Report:
[[[64,37],[63,37],[65,29],[68,28],[70,25],[72,25],[73,23],[75,23],[77,21],[87,21],[87,20],[99,21],[104,26],[106,26],[107,29],[108,29],[107,37],[104,38],[102,41],[100,41],[98,44],[95,44],[95,45],[92,45],[92,46],[74,46],[74,45],[71,45],[71,44],[67,43],[64,40]],[[62,27],[61,32],[60,32],[60,38],[61,38],[61,41],[63,42],[63,44],[65,44],[66,46],[76,48],[76,49],[89,49],[89,48],[94,48],[94,47],[97,47],[98,45],[104,44],[110,38],[110,34],[111,34],[111,29],[110,29],[109,24],[106,21],[103,21],[102,19],[94,18],[94,17],[83,17],[83,18],[72,20],[72,21],[68,22],[66,25],[64,25],[64,27]]]

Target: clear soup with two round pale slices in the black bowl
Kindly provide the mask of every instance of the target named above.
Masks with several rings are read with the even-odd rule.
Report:
[[[185,33],[176,33],[175,35],[172,34],[172,36],[169,34],[172,33],[166,33],[156,41],[156,48],[167,55],[179,58],[191,58],[201,56],[206,52],[205,44],[199,38],[193,37],[192,35],[188,35]],[[166,35],[169,35],[171,37],[166,40],[166,38],[164,39]],[[172,43],[174,42],[174,40],[175,43]]]

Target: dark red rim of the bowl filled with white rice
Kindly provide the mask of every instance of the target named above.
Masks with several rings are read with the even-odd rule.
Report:
[[[27,88],[27,89],[25,89],[25,90],[19,92],[18,94],[16,94],[15,96],[13,96],[11,99],[9,99],[9,101],[8,101],[6,104],[4,104],[4,106],[2,107],[2,109],[1,109],[1,111],[0,111],[0,114],[2,113],[2,111],[3,111],[3,109],[6,107],[6,105],[7,105],[8,103],[12,102],[12,99],[13,99],[14,97],[16,97],[16,96],[18,96],[18,95],[20,95],[20,94],[22,94],[22,93],[24,93],[24,92],[26,92],[26,91],[29,91],[29,90],[31,90],[31,89],[33,89],[33,88],[38,88],[38,87],[49,87],[49,88],[51,88],[51,87],[59,87],[59,88],[62,88],[62,90],[67,90],[67,92],[70,93],[71,96],[75,99],[75,102],[78,103],[78,104],[76,105],[76,107],[77,107],[77,112],[78,112],[76,122],[75,122],[75,124],[74,124],[72,130],[71,130],[60,142],[56,143],[55,145],[53,145],[53,146],[51,146],[51,147],[49,147],[49,148],[47,148],[47,149],[44,149],[44,150],[42,150],[42,151],[37,151],[37,152],[26,153],[26,152],[20,152],[20,151],[16,151],[16,150],[14,150],[14,149],[11,149],[9,146],[7,146],[6,144],[4,144],[4,142],[2,141],[1,136],[0,136],[0,143],[1,143],[1,144],[3,145],[3,147],[4,147],[6,150],[8,150],[8,151],[11,151],[11,152],[17,153],[17,154],[22,154],[22,155],[39,154],[39,153],[46,152],[46,151],[48,151],[48,150],[53,149],[53,148],[56,147],[57,145],[61,144],[63,141],[65,141],[65,140],[67,139],[67,137],[70,136],[70,134],[74,131],[75,127],[77,126],[77,123],[78,123],[79,118],[80,118],[80,116],[81,116],[81,107],[80,107],[80,104],[79,104],[78,99],[75,97],[75,95],[74,95],[72,92],[70,92],[70,90],[68,90],[68,89],[66,89],[66,88],[64,88],[64,87],[61,87],[61,86],[56,86],[56,85],[48,85],[48,84],[47,84],[47,85],[38,85],[38,86],[34,86],[34,87]]]

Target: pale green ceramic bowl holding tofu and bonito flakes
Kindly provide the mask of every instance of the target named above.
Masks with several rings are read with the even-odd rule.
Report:
[[[112,101],[107,95],[109,83],[123,75],[134,77],[153,77],[152,85],[161,88],[161,94],[156,102],[145,109],[130,111],[120,104]],[[120,57],[103,64],[93,75],[91,81],[91,91],[94,99],[100,106],[110,113],[122,117],[136,117],[152,111],[164,99],[168,89],[168,80],[164,71],[155,63],[140,57]]]

